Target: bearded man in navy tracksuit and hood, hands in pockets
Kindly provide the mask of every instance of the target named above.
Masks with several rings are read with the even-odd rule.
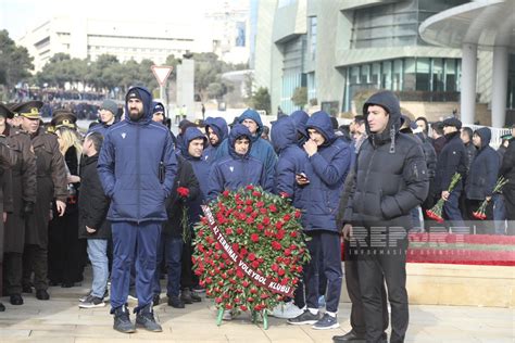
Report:
[[[174,185],[177,161],[171,132],[152,122],[152,96],[146,88],[129,89],[125,110],[125,119],[106,131],[98,162],[100,180],[111,199],[108,219],[112,223],[114,250],[113,327],[121,332],[135,331],[125,304],[136,253],[136,323],[162,331],[152,310],[152,277],[161,224],[167,219],[165,200]]]

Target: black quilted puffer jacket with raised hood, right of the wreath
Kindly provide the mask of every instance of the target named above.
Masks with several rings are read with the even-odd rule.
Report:
[[[368,106],[379,105],[389,113],[387,128],[372,132]],[[399,132],[399,100],[390,91],[372,96],[363,105],[368,135],[355,164],[355,187],[344,223],[353,226],[397,226],[411,228],[411,209],[427,196],[429,181],[426,161],[415,138]]]

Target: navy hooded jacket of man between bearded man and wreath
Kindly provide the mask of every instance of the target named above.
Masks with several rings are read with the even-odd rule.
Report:
[[[202,208],[200,205],[205,200],[205,195],[208,195],[208,190],[209,190],[209,177],[210,177],[210,165],[209,163],[203,160],[202,157],[193,157],[189,154],[188,152],[188,147],[189,143],[193,139],[201,138],[204,141],[204,147],[208,143],[208,139],[205,138],[205,135],[202,134],[198,128],[196,127],[189,127],[186,129],[185,132],[185,147],[183,147],[183,156],[191,164],[193,167],[194,176],[197,177],[197,180],[200,186],[200,192],[199,196],[191,198],[188,203],[188,212],[189,216],[192,223],[197,223],[200,219],[200,216],[202,214]]]

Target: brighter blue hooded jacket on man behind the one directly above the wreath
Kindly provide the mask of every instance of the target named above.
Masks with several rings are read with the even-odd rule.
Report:
[[[263,132],[263,122],[261,122],[261,116],[254,110],[249,109],[238,117],[238,123],[241,124],[244,119],[252,119],[258,124],[258,131],[255,132],[255,136],[251,137],[252,150],[250,155],[263,162],[266,176],[273,178],[275,174],[275,165],[277,163],[277,155],[275,154],[272,144],[267,140],[261,138],[261,134]],[[227,139],[222,142],[219,149],[216,152],[216,161],[228,154],[227,144]]]

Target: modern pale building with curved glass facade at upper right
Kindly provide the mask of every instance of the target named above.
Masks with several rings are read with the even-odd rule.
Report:
[[[261,1],[259,18],[266,23],[258,23],[256,86],[267,87],[273,109],[280,106],[285,112],[297,110],[291,96],[298,87],[306,87],[309,100],[316,100],[323,110],[334,114],[355,110],[353,100],[374,89],[395,91],[401,101],[459,103],[463,89],[461,46],[424,39],[419,28],[431,17],[467,3]],[[452,27],[447,29],[447,35],[454,34]],[[445,36],[444,30],[439,34]],[[269,53],[261,55],[260,49],[265,51],[263,47],[268,43]],[[481,51],[477,59],[475,100],[490,105],[492,53]]]

